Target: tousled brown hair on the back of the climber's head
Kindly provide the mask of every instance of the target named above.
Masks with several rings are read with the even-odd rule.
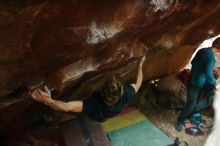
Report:
[[[115,104],[119,101],[123,93],[123,79],[119,74],[114,74],[107,79],[102,88],[102,98],[104,102]]]

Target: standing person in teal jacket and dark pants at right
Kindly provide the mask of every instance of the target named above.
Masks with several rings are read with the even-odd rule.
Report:
[[[212,72],[215,65],[214,53],[218,52],[220,52],[220,37],[213,41],[210,48],[199,50],[192,60],[191,74],[187,83],[187,103],[177,118],[175,125],[177,131],[182,130],[186,118],[212,103],[216,84]],[[201,91],[206,98],[198,102]]]

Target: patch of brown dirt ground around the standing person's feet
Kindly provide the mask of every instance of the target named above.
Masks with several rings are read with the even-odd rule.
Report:
[[[206,121],[204,128],[202,128],[204,135],[194,137],[187,135],[184,129],[181,132],[175,130],[174,125],[176,122],[176,118],[180,112],[179,110],[148,108],[142,110],[142,112],[152,123],[154,123],[172,139],[175,139],[175,137],[179,137],[180,141],[186,141],[189,146],[203,146],[209,133],[211,132],[211,127],[213,124],[213,116],[211,114],[208,114],[210,113],[210,111],[203,112],[202,118]]]

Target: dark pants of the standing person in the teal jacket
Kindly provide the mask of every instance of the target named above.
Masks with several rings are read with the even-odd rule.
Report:
[[[204,92],[203,98],[199,99],[200,93]],[[208,107],[214,97],[214,88],[203,88],[189,85],[187,89],[187,102],[185,107],[182,109],[177,122],[183,123],[184,120],[189,117],[194,112],[198,112],[206,107]]]

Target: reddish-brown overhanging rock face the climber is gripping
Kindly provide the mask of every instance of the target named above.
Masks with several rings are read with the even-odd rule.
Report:
[[[26,88],[40,82],[82,98],[108,73],[132,81],[142,55],[145,80],[175,73],[220,33],[219,16],[218,0],[3,0],[0,121],[25,113]]]

